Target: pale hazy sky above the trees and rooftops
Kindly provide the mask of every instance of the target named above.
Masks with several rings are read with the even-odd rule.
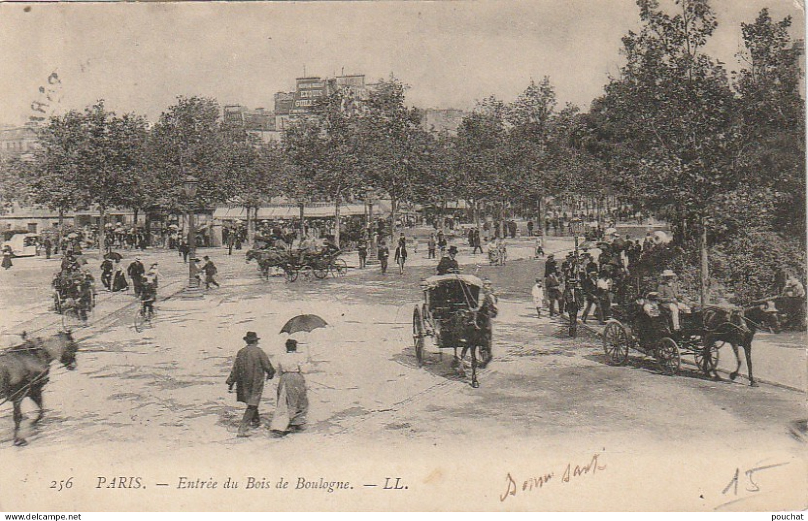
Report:
[[[737,68],[740,23],[763,7],[804,37],[802,2],[713,0],[707,52]],[[633,0],[3,3],[0,123],[24,123],[32,102],[50,115],[102,98],[150,121],[179,95],[271,109],[296,77],[339,73],[393,73],[409,104],[463,110],[549,76],[559,102],[586,109],[638,27]],[[58,102],[39,91],[53,71]]]

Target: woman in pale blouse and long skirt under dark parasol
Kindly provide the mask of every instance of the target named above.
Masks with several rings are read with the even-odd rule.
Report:
[[[275,365],[280,374],[278,399],[269,427],[275,436],[301,431],[305,427],[309,412],[303,377],[306,365],[305,356],[297,352],[297,340],[286,340],[286,352],[277,356]]]

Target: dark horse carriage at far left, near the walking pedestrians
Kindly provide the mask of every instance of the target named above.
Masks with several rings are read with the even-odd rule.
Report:
[[[53,308],[61,315],[66,329],[84,325],[95,310],[97,291],[90,273],[80,269],[64,269],[51,281]]]

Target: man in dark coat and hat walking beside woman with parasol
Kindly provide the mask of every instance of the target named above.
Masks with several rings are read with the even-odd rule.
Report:
[[[227,379],[227,386],[230,392],[236,386],[236,400],[246,404],[247,408],[242,416],[242,423],[238,426],[238,437],[250,436],[247,427],[259,427],[261,417],[258,406],[263,394],[264,373],[267,380],[275,377],[275,368],[269,361],[267,353],[258,347],[259,339],[255,331],[247,331],[243,339],[246,346],[241,348],[236,355],[233,370]]]

